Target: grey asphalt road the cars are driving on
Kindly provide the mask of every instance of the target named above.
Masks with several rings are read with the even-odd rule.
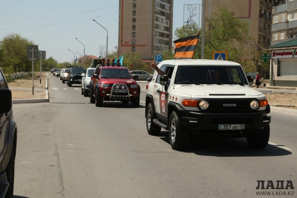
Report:
[[[257,191],[294,189],[256,189],[257,180],[297,187],[297,115],[271,112],[263,150],[244,138],[192,138],[187,150],[174,151],[167,131],[147,134],[140,85],[138,108],[96,107],[79,85],[49,75],[49,103],[14,104],[15,197],[265,197]]]

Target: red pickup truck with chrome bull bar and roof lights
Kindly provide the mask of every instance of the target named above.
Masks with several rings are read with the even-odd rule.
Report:
[[[90,81],[90,102],[102,107],[103,101],[121,101],[139,106],[140,86],[123,66],[97,65]]]

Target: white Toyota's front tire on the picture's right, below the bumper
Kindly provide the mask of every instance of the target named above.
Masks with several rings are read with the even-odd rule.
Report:
[[[249,134],[247,136],[247,143],[251,148],[265,148],[268,144],[270,136],[270,127],[265,126],[264,129],[260,130],[257,133]]]

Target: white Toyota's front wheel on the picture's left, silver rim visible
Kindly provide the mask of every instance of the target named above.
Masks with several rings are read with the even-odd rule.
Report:
[[[174,150],[187,147],[189,143],[189,133],[185,130],[175,111],[170,115],[168,133],[170,145]]]

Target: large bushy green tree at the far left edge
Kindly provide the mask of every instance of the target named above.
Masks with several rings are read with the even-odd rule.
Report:
[[[0,41],[1,66],[4,72],[31,71],[30,62],[27,61],[27,46],[32,41],[19,34],[9,34]]]

